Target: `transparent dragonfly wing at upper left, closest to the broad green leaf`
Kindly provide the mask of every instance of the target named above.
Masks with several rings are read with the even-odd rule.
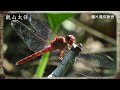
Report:
[[[52,29],[39,14],[33,13],[28,14],[28,16],[30,24],[33,26],[34,30],[39,36],[49,41],[55,38],[55,34],[53,34]]]

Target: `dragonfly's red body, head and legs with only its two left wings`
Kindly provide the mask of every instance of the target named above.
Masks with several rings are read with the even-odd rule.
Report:
[[[62,55],[64,54],[64,50],[75,42],[75,37],[73,35],[67,35],[66,37],[57,36],[38,14],[30,15],[29,22],[34,30],[18,20],[12,20],[11,22],[11,25],[17,34],[31,50],[36,52],[16,62],[16,65],[26,63],[46,52],[51,52],[52,50],[57,49],[60,50],[59,58],[63,59]],[[55,39],[49,41],[51,37],[55,37]]]

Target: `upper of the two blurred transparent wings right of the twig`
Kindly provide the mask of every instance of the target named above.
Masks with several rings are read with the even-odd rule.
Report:
[[[107,55],[101,55],[98,53],[79,54],[77,59],[85,60],[84,62],[89,63],[91,66],[103,68],[110,68],[114,63]]]

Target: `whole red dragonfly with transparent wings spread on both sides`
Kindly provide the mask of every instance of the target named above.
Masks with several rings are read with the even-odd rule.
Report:
[[[65,50],[68,50],[69,46],[75,43],[75,37],[73,35],[57,36],[54,32],[52,32],[52,29],[45,22],[45,20],[40,17],[39,14],[28,14],[28,17],[28,21],[32,28],[23,24],[19,20],[11,21],[11,26],[18,36],[27,44],[30,50],[35,52],[34,54],[16,62],[16,65],[24,64],[38,56],[45,54],[46,52],[52,52],[53,50],[59,50],[59,58],[63,60]],[[85,50],[85,48],[82,49],[83,50],[81,51]],[[97,70],[95,70],[95,68],[110,68],[111,65],[113,66],[113,61],[110,57],[95,53],[86,54],[80,52],[76,60],[79,61],[79,63],[85,64],[87,67],[92,68],[89,75],[97,74]],[[86,76],[85,73],[80,73],[81,75]],[[97,75],[99,76],[99,74]]]

